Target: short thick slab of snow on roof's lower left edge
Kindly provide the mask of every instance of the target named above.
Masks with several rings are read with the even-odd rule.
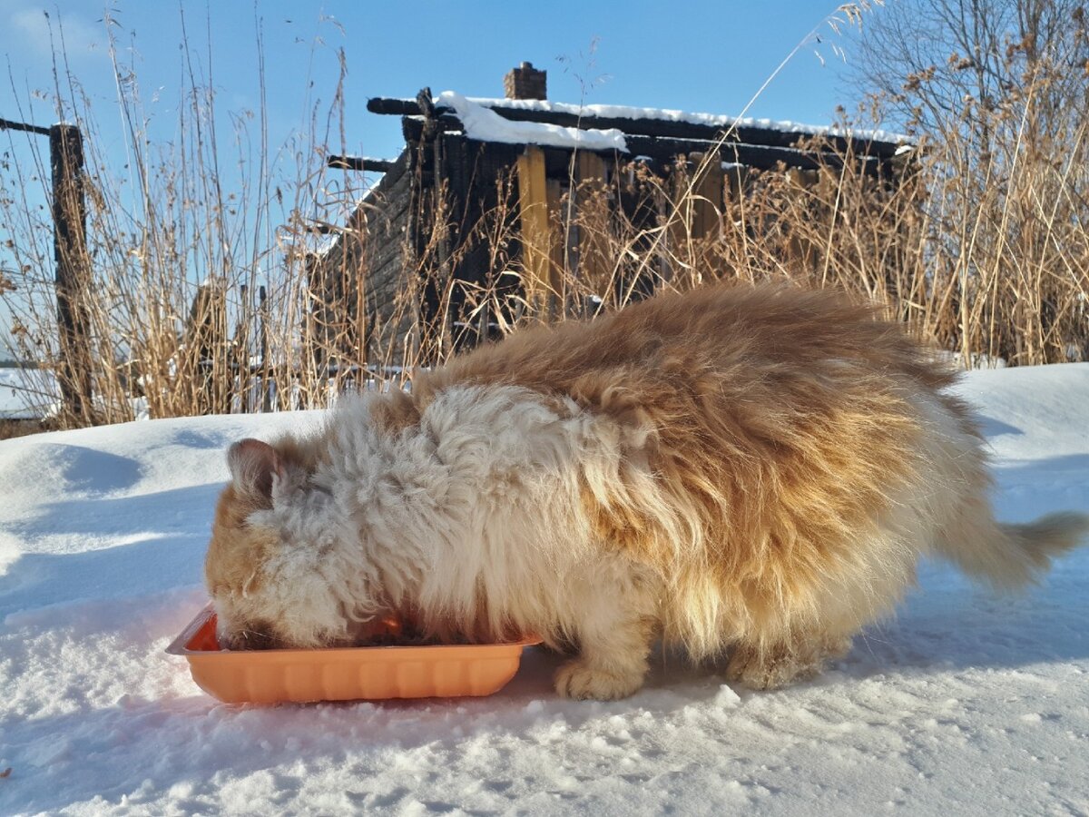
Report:
[[[627,153],[624,134],[614,127],[602,131],[594,127],[562,127],[541,122],[512,122],[480,101],[467,99],[452,90],[442,92],[436,97],[435,103],[453,109],[465,126],[465,135],[470,139]]]

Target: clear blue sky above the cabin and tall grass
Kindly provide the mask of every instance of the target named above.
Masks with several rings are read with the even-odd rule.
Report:
[[[836,0],[624,4],[119,0],[109,7],[109,16],[114,21],[118,59],[134,70],[147,102],[152,138],[169,141],[174,135],[174,111],[184,84],[180,48],[184,17],[194,70],[205,80],[211,77],[221,113],[258,108],[260,33],[268,137],[273,146],[305,131],[310,111],[328,105],[343,49],[346,149],[389,158],[402,146],[400,122],[367,113],[371,96],[412,97],[427,85],[436,93],[451,89],[498,97],[503,74],[528,60],[548,71],[550,99],[736,115],[815,31],[821,42],[806,42],[747,114],[828,123],[837,105],[853,109],[858,97],[845,82],[843,60],[834,51],[842,47],[849,61],[851,37],[837,36],[825,22],[837,5]],[[101,2],[85,0],[49,5],[0,0],[4,72],[0,118],[40,125],[57,120],[48,92],[63,29],[69,70],[96,111],[99,147],[121,167],[125,156],[114,112],[106,9]],[[41,137],[0,133],[0,151],[10,153],[15,161],[29,161],[27,145],[34,138],[45,143]],[[223,181],[230,186],[230,179]],[[3,228],[0,224],[0,246]],[[0,264],[3,260],[0,255]]]

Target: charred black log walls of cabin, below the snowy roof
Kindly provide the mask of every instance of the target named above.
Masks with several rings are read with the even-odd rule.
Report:
[[[425,89],[421,98],[430,100],[430,93]],[[469,139],[450,112],[419,99],[412,106],[412,110],[396,111],[412,114],[402,120],[405,150],[389,164],[328,261],[351,265],[364,281],[365,349],[371,366],[435,364],[461,349],[497,338],[501,327],[515,322],[524,308],[519,305],[526,303],[519,279],[526,272],[519,239],[519,228],[525,225],[519,209],[524,203],[519,202],[516,171],[519,156],[527,149],[544,158],[541,197],[553,221],[560,216],[563,196],[572,192],[572,180],[587,182],[587,173],[594,169],[594,175],[601,178],[598,198],[603,197],[614,218],[643,231],[647,243],[643,248],[651,255],[654,229],[669,215],[669,190],[682,183],[687,188],[688,174],[703,167],[700,160],[708,150],[717,156],[709,157],[709,170],[700,171],[694,212],[685,222],[684,234],[674,235],[677,230],[671,230],[668,243],[710,244],[718,237],[725,199],[742,195],[738,185],[727,184],[719,159],[739,161],[746,173],[762,168],[781,172],[784,166],[836,167],[839,162],[836,156],[818,155],[820,146],[813,146],[816,153],[787,148],[786,138],[796,141],[800,136],[796,133],[757,134],[770,144],[715,145],[698,138],[702,132],[689,125],[684,125],[684,133],[695,131],[697,137],[678,138],[680,132],[674,135],[669,123],[641,123],[647,131],[658,127],[670,133],[629,134],[628,155],[607,151],[579,159],[567,149]],[[506,111],[501,114],[506,115]],[[745,134],[734,134],[739,135]],[[839,142],[842,147],[864,147],[857,139]],[[894,162],[885,160],[885,154],[896,146],[866,143],[865,147],[870,154],[865,159],[866,172],[886,184],[895,183],[890,170]],[[352,169],[367,170],[368,162],[374,166],[371,160],[351,157],[339,157],[339,161],[340,167]],[[567,215],[576,215],[587,204],[584,199],[590,198],[590,190],[578,192],[574,206],[566,206]],[[605,277],[611,291],[600,292],[600,297],[626,302],[649,294],[673,272],[660,254],[657,260],[624,263],[614,269],[614,259],[604,257],[597,247],[603,243],[595,241],[599,236],[583,235],[582,228],[567,232],[558,232],[554,225],[547,229],[556,233],[546,240],[549,264],[535,268],[546,282],[552,280],[553,270],[573,270],[587,280]],[[504,275],[509,270],[516,275]],[[547,304],[550,315],[556,308],[571,308],[564,292],[550,297],[559,302]],[[580,307],[576,312],[582,314]]]

